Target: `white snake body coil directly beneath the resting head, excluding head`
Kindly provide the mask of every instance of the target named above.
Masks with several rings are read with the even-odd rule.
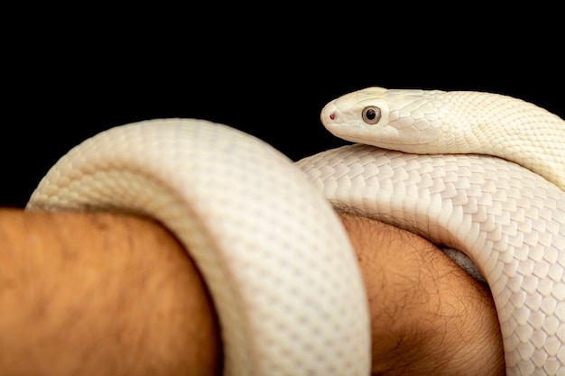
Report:
[[[565,375],[560,188],[499,158],[407,154],[358,143],[297,165],[335,205],[465,252],[493,295],[507,375]]]

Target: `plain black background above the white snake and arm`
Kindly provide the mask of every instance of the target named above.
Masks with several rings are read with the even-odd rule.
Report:
[[[320,109],[368,86],[492,91],[565,117],[563,31],[551,10],[481,8],[445,14],[447,22],[425,10],[272,6],[255,9],[261,16],[241,7],[146,9],[127,23],[79,13],[40,27],[38,11],[5,33],[0,206],[23,207],[73,145],[146,119],[228,124],[298,160],[345,143],[325,131]]]

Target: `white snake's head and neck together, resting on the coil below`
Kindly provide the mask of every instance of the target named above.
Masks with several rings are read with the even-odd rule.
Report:
[[[381,112],[375,124],[362,117],[371,105]],[[329,102],[320,118],[347,141],[414,153],[493,155],[565,190],[565,122],[512,96],[367,87]]]

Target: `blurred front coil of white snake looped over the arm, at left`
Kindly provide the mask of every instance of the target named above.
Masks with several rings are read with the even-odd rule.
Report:
[[[369,373],[366,292],[347,233],[292,160],[249,134],[195,119],[109,129],[63,156],[27,210],[168,227],[214,300],[224,375]]]

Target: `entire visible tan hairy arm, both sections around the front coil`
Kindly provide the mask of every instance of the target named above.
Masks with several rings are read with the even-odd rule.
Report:
[[[421,237],[340,214],[371,308],[373,374],[505,374],[488,291]],[[0,374],[218,375],[211,298],[153,221],[0,210]]]

